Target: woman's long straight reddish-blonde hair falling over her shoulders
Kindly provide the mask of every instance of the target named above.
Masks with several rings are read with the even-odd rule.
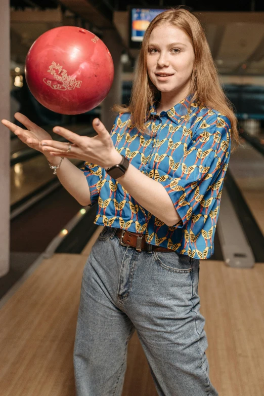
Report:
[[[129,104],[115,104],[113,110],[131,113],[131,121],[141,132],[148,134],[144,123],[150,116],[150,107],[155,100],[157,89],[150,81],[147,72],[148,43],[152,30],[164,23],[170,23],[185,31],[191,38],[195,54],[194,68],[191,75],[190,94],[191,102],[202,103],[205,107],[215,109],[226,115],[231,122],[232,141],[239,144],[237,118],[232,103],[226,97],[218,78],[218,71],[214,65],[211,51],[205,37],[204,30],[198,19],[181,6],[169,9],[158,14],[146,29],[140,49],[137,67],[135,69],[133,87]],[[231,150],[231,152],[233,149]]]

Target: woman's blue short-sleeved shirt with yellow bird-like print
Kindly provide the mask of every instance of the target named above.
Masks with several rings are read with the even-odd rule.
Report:
[[[230,158],[231,123],[217,110],[191,96],[167,111],[150,108],[150,135],[131,124],[130,113],[120,113],[111,130],[116,150],[147,177],[161,183],[181,221],[173,226],[143,208],[98,165],[81,168],[97,203],[95,224],[143,233],[158,245],[197,259],[209,258],[219,215],[223,181]]]

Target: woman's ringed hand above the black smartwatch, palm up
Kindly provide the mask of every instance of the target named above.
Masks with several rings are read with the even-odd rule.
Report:
[[[94,119],[93,128],[97,132],[97,135],[91,138],[79,136],[62,127],[55,127],[53,129],[55,133],[71,142],[71,150],[67,152],[69,143],[58,142],[47,138],[43,138],[41,141],[42,150],[43,152],[49,152],[51,156],[76,158],[96,164],[105,169],[119,164],[122,156],[116,151],[109,132],[99,118]]]

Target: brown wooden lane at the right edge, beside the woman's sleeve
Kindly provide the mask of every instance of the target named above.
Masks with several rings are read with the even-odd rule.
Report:
[[[231,154],[229,170],[264,235],[264,157],[244,139]]]

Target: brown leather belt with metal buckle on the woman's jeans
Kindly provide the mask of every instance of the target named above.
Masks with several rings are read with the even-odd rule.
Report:
[[[171,249],[147,244],[145,242],[145,234],[139,234],[137,232],[130,232],[130,231],[126,231],[121,228],[117,228],[115,234],[119,237],[120,245],[130,246],[131,248],[136,248],[136,250],[138,252],[141,252],[142,250],[147,250],[148,252],[151,252],[153,250],[155,250],[156,252],[168,252],[168,253],[173,252],[173,250],[171,250]]]

